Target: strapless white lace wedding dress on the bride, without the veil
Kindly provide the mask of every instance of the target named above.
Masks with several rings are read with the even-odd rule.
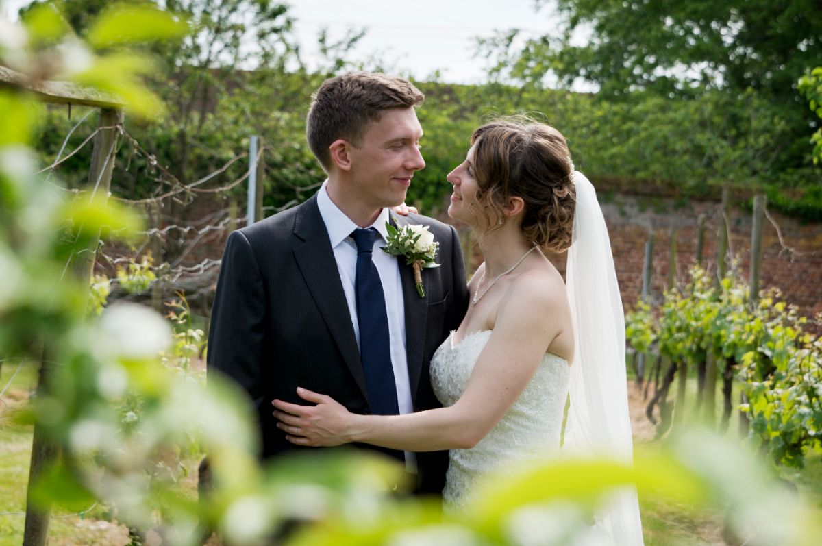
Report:
[[[457,345],[451,332],[436,349],[431,360],[431,383],[442,405],[453,405],[462,396],[491,332],[466,335]],[[471,449],[450,451],[442,492],[449,510],[459,511],[468,502],[476,480],[488,472],[517,470],[518,464],[559,450],[569,377],[565,359],[545,354],[529,384],[491,432]]]

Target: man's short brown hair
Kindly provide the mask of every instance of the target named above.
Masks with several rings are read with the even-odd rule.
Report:
[[[376,72],[351,72],[322,82],[312,95],[306,119],[308,146],[326,172],[331,144],[342,138],[353,146],[363,140],[368,123],[394,108],[423,104],[425,95],[409,81]]]

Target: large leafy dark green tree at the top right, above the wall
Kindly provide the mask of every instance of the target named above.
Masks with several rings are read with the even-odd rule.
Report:
[[[536,6],[547,3],[538,0]],[[818,61],[822,12],[817,3],[556,0],[566,23],[559,32],[523,43],[520,32],[510,30],[479,45],[496,56],[492,75],[525,86],[581,79],[599,87],[598,99],[631,109],[657,98],[663,109],[683,100],[707,101],[713,114],[700,118],[714,142],[701,167],[713,178],[774,191],[812,191],[820,176],[811,167],[807,139],[818,120],[808,115],[796,81]],[[584,29],[590,30],[588,44],[572,43],[575,31]],[[658,130],[650,121],[643,127]],[[621,127],[614,123],[611,130]],[[717,150],[732,155],[714,154]],[[722,161],[714,162],[712,155]]]

